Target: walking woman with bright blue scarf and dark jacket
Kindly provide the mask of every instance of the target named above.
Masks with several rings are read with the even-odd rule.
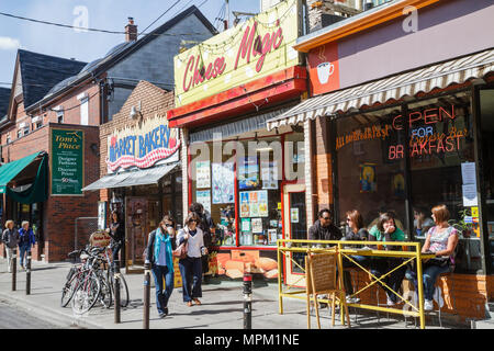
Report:
[[[168,315],[168,301],[175,287],[173,253],[177,249],[176,224],[165,215],[158,228],[149,233],[145,263],[151,265],[156,285],[156,307],[159,318]],[[165,286],[162,282],[165,281]]]

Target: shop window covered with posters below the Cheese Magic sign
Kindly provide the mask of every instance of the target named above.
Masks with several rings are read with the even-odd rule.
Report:
[[[191,146],[192,201],[211,213],[215,244],[274,246],[282,237],[282,180],[304,181],[303,133],[227,140],[221,148]]]

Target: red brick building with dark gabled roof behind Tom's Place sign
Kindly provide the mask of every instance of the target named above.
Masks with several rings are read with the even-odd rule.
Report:
[[[121,110],[139,80],[171,89],[172,56],[182,41],[203,41],[216,33],[193,5],[142,37],[133,19],[125,31],[124,43],[89,64],[18,53],[8,115],[0,121],[2,162],[9,168],[32,162],[2,186],[11,195],[15,195],[11,191],[27,191],[35,176],[45,172],[45,163],[49,165],[49,184],[42,204],[12,202],[12,196],[4,195],[2,223],[7,217],[18,224],[31,219],[40,242],[34,259],[44,254],[46,261],[65,260],[68,251],[87,242],[97,229],[99,196],[80,190],[100,176],[99,126]],[[65,141],[57,144],[58,139],[79,140],[78,152],[54,151],[56,147],[70,149]],[[25,177],[29,172],[31,177]],[[77,190],[69,189],[75,183]]]

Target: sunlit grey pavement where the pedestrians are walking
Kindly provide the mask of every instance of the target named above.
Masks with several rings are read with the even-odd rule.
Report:
[[[12,291],[12,274],[7,272],[7,260],[0,258],[0,298],[11,306],[22,308],[30,316],[46,320],[57,328],[81,329],[143,329],[144,315],[144,276],[128,274],[125,280],[128,285],[131,303],[121,310],[121,324],[114,322],[113,307],[106,309],[99,303],[87,314],[75,315],[70,308],[60,306],[61,286],[71,267],[69,262],[45,263],[32,262],[31,294],[25,294],[25,278],[23,270],[18,270],[16,291]],[[203,284],[201,306],[188,307],[182,302],[180,287],[175,288],[168,303],[170,314],[164,319],[158,318],[155,304],[155,288],[150,292],[150,329],[243,329],[244,296],[242,281],[212,280]],[[307,329],[305,301],[283,298],[284,314],[279,314],[278,285],[254,280],[252,286],[252,319],[254,329]],[[321,309],[323,329],[347,329],[337,320],[330,326],[329,309]],[[356,315],[358,313],[358,315]],[[316,328],[315,312],[311,319],[312,328]],[[350,309],[352,329],[414,329],[413,318],[405,324],[403,316],[386,316],[375,313]],[[356,321],[357,317],[357,321]],[[440,329],[437,318],[428,318],[427,329]],[[451,329],[442,321],[442,329]],[[458,328],[458,326],[456,327]]]

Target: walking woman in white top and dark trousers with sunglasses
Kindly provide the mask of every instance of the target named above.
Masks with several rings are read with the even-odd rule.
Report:
[[[203,254],[207,254],[204,246],[204,234],[199,228],[200,217],[191,212],[186,218],[182,229],[177,236],[177,245],[187,245],[187,257],[179,260],[180,274],[182,276],[183,302],[192,307],[192,301],[195,305],[201,305],[199,297],[202,297],[202,260]]]

